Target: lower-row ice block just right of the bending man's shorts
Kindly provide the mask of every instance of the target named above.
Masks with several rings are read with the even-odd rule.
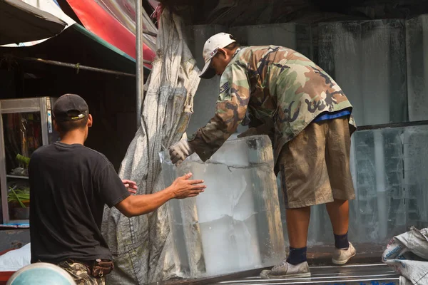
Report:
[[[355,133],[357,227],[361,242],[385,242],[406,230],[403,180],[404,128]]]

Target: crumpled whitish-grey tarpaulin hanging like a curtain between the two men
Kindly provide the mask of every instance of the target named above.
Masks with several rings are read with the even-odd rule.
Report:
[[[137,182],[138,194],[163,190],[159,152],[182,138],[193,113],[200,78],[183,38],[181,19],[163,11],[156,58],[148,78],[141,127],[128,147],[119,176]],[[128,218],[106,207],[102,233],[115,259],[108,284],[146,284],[178,274],[166,205],[156,212]]]

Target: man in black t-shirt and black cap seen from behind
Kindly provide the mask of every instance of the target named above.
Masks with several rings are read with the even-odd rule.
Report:
[[[29,164],[31,263],[58,264],[77,284],[104,284],[113,269],[101,235],[105,204],[133,217],[169,199],[195,197],[205,185],[189,173],[160,192],[131,195],[136,183],[121,180],[104,155],[83,146],[93,122],[85,100],[62,95],[53,113],[61,140],[39,147]]]

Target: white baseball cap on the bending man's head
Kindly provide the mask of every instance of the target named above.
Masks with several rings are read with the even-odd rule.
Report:
[[[217,54],[218,48],[224,48],[233,42],[235,42],[235,39],[229,33],[217,33],[205,41],[202,53],[205,66],[200,72],[200,78],[209,79],[215,76],[215,69],[210,67],[211,60]]]

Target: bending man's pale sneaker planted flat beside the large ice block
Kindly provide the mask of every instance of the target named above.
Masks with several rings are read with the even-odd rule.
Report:
[[[277,279],[277,278],[303,278],[310,277],[309,265],[307,261],[300,264],[292,265],[284,260],[281,264],[273,266],[271,270],[263,270],[260,273],[262,279]]]

